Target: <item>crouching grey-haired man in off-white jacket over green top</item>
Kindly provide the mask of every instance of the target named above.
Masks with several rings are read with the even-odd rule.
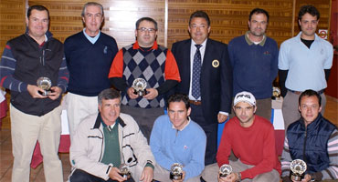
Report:
[[[86,117],[75,131],[70,182],[152,181],[153,154],[132,116],[120,113],[120,93],[108,88],[98,99],[99,115]],[[121,164],[131,178],[121,176]]]

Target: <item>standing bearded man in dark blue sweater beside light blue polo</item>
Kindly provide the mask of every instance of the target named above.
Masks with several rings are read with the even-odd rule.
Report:
[[[233,67],[233,96],[248,91],[257,99],[256,114],[270,120],[272,82],[278,73],[278,46],[265,35],[269,14],[255,8],[248,16],[248,32],[228,44]]]

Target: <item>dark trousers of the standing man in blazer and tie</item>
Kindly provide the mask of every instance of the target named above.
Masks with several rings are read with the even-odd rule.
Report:
[[[216,163],[217,155],[217,130],[218,123],[217,121],[210,122],[206,121],[203,116],[202,106],[190,105],[191,114],[190,117],[195,121],[199,126],[203,128],[206,133],[206,157],[205,165],[211,165]],[[210,124],[211,123],[211,124]]]

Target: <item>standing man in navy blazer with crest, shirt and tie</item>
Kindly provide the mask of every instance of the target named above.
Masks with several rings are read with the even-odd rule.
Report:
[[[172,52],[181,83],[175,93],[189,96],[191,118],[206,132],[206,165],[216,162],[217,126],[231,111],[232,69],[227,45],[207,38],[210,20],[206,12],[190,16],[191,39],[174,43]]]

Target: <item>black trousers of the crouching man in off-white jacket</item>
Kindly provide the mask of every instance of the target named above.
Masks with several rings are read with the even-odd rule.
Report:
[[[84,170],[76,169],[74,173],[69,177],[70,182],[118,182],[116,180],[108,179],[107,181],[100,178],[90,175]],[[132,178],[126,180],[125,182],[134,182]]]

